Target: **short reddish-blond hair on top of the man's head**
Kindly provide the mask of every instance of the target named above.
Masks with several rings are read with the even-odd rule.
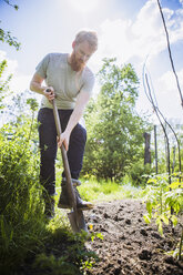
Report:
[[[82,30],[75,35],[75,43],[88,41],[90,47],[95,51],[98,50],[98,34],[95,31]]]

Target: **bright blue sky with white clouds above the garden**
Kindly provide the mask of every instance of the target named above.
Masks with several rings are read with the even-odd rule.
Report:
[[[37,64],[49,52],[71,52],[75,33],[92,29],[99,49],[88,65],[96,73],[103,58],[131,63],[139,77],[136,111],[156,118],[143,89],[143,67],[161,112],[167,120],[183,123],[183,108],[170,63],[166,37],[156,0],[10,0],[19,10],[0,0],[0,28],[11,31],[21,42],[19,51],[0,42],[0,60],[8,60],[13,73],[11,89],[29,90]],[[162,0],[171,51],[183,93],[183,0]],[[100,92],[98,82],[93,94]],[[34,94],[32,94],[34,95]],[[40,99],[40,95],[39,95]]]

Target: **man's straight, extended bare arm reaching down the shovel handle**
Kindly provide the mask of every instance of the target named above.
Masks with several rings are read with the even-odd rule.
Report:
[[[59,142],[58,142],[59,146],[61,146],[63,143],[67,151],[69,149],[70,134],[73,128],[80,121],[81,116],[83,115],[84,108],[87,103],[89,102],[89,99],[90,99],[90,93],[82,92],[82,91],[79,93],[77,98],[77,102],[75,102],[75,108],[70,116],[67,129],[64,130],[64,132],[61,134],[59,139]]]

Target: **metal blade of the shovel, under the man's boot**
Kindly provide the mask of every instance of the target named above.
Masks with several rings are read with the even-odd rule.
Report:
[[[82,230],[85,232],[89,232],[82,211],[80,211],[80,210],[72,211],[72,212],[68,213],[68,217],[69,217],[69,221],[70,221],[70,224],[71,224],[73,232],[78,233]]]

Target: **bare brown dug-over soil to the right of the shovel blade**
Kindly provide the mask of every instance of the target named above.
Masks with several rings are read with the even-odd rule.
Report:
[[[101,232],[104,237],[87,244],[101,259],[88,271],[89,275],[183,274],[183,262],[163,254],[175,247],[179,228],[172,237],[171,230],[165,227],[163,238],[155,225],[144,223],[144,213],[145,205],[134,200],[98,203],[84,213],[94,232]]]

